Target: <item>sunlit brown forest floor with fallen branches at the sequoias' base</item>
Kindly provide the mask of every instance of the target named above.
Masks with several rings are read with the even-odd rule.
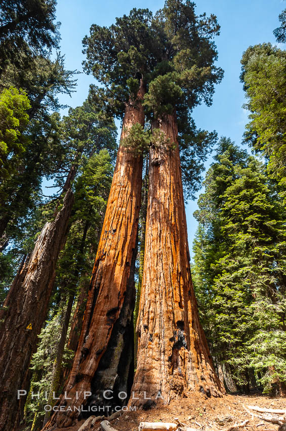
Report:
[[[254,429],[256,431],[277,430],[278,424],[267,422],[255,416],[265,413],[248,412],[246,408],[249,405],[286,410],[286,398],[274,398],[257,393],[249,395],[228,394],[222,398],[207,398],[203,394],[197,394],[192,399],[174,400],[168,406],[152,410],[124,412],[119,418],[111,421],[111,426],[118,431],[138,431],[140,422],[174,422],[174,419],[178,418],[180,422],[187,424],[189,427],[201,429],[202,431],[220,431],[235,422],[241,423],[245,420],[249,420],[246,426],[237,429],[241,431]],[[278,417],[279,415],[272,416]],[[83,423],[84,420],[73,427],[65,428],[65,431],[77,431]],[[93,430],[101,430],[100,422],[95,425]]]

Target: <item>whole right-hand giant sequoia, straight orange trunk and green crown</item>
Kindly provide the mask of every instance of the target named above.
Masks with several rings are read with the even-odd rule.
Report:
[[[178,142],[178,126],[180,139],[187,140],[191,110],[202,100],[211,103],[214,84],[222,78],[212,41],[219,26],[214,16],[198,17],[193,3],[177,0],[166,2],[155,26],[165,49],[144,102],[153,136],[135,399],[130,401],[144,408],[193,390],[207,396],[222,390],[198,320]]]

